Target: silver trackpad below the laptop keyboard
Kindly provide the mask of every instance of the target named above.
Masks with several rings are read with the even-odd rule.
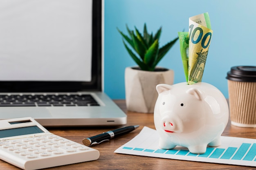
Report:
[[[43,118],[52,117],[49,110],[46,108],[1,108],[0,118],[20,118],[20,117],[32,117]]]

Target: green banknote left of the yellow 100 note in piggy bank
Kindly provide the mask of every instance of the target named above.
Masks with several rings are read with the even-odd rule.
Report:
[[[189,79],[189,56],[187,56],[187,50],[189,48],[189,42],[186,42],[189,40],[189,32],[178,32],[179,41],[180,41],[180,54],[184,69],[184,74],[186,77],[186,82],[188,82]]]

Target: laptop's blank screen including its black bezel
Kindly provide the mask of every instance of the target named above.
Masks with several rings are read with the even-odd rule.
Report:
[[[8,0],[0,11],[0,92],[101,90],[101,0]]]

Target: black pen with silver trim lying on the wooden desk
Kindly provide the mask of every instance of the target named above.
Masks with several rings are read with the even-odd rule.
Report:
[[[99,135],[83,139],[83,144],[85,146],[92,146],[92,145],[95,145],[95,144],[100,144],[101,142],[109,141],[113,137],[117,137],[117,136],[129,133],[132,130],[135,130],[136,128],[138,128],[138,127],[139,127],[139,125],[126,126],[126,127],[111,130],[111,131],[108,131],[108,132],[103,132]]]

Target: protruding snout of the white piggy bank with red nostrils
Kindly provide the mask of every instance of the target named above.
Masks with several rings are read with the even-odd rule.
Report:
[[[161,119],[161,127],[165,132],[182,132],[182,121],[178,117],[164,116]]]

